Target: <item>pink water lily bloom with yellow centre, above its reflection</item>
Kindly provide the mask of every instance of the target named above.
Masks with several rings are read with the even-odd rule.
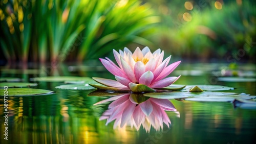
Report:
[[[119,53],[113,50],[118,66],[109,58],[100,59],[101,63],[111,74],[115,75],[115,80],[93,78],[98,83],[117,90],[131,90],[135,92],[147,91],[146,88],[137,90],[143,85],[148,88],[163,88],[173,84],[179,77],[167,77],[180,64],[177,61],[168,65],[170,56],[163,60],[164,52],[160,49],[154,53],[146,46],[143,50],[139,47],[132,53],[127,47]],[[97,87],[99,88],[99,87]]]

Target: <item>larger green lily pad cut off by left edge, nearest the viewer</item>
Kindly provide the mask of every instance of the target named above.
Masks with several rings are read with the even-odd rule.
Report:
[[[0,89],[0,96],[4,96],[5,89]],[[54,93],[50,90],[45,89],[35,89],[35,88],[8,88],[9,96],[26,96],[26,95],[41,95],[41,94],[51,94]],[[5,92],[6,93],[6,92]]]

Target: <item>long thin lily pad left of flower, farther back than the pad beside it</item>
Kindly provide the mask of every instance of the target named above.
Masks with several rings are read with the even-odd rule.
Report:
[[[94,82],[92,78],[89,77],[66,77],[66,76],[54,76],[54,77],[37,77],[31,78],[31,81],[38,82],[67,82],[67,81],[84,81],[84,83]]]

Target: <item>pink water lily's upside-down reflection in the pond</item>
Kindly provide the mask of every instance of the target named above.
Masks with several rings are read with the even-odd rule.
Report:
[[[150,132],[151,126],[159,131],[163,123],[169,128],[170,119],[165,111],[177,111],[169,100],[144,97],[142,94],[123,94],[100,101],[94,105],[113,101],[103,112],[100,120],[107,119],[106,125],[114,122],[115,128],[125,126],[143,128]]]

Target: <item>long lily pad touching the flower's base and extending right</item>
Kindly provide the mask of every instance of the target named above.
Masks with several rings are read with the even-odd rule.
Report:
[[[239,94],[234,92],[183,92],[183,91],[173,91],[173,92],[155,92],[155,93],[144,93],[146,97],[156,98],[156,99],[181,99],[181,98],[194,98],[194,97],[213,97],[216,95],[233,95]]]

